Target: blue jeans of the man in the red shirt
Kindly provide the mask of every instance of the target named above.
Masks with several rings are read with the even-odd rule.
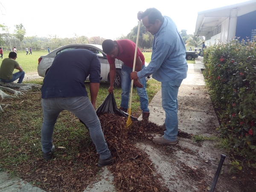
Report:
[[[145,65],[142,66],[142,69]],[[120,107],[128,109],[129,95],[131,89],[131,74],[132,68],[127,65],[122,66],[121,72],[121,84],[122,84],[122,94],[121,94],[121,105]],[[146,91],[146,79],[145,77],[139,79],[140,83],[143,84],[142,88],[137,87],[137,93],[140,96],[140,108],[143,112],[149,112],[148,109],[148,94]]]

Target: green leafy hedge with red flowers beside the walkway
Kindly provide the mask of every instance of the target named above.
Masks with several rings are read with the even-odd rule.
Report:
[[[256,42],[234,39],[204,50],[204,77],[221,119],[221,133],[256,160]],[[248,150],[249,149],[249,150]]]

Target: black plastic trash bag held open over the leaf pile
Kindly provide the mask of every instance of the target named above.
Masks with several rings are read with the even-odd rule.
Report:
[[[113,93],[109,93],[102,105],[99,106],[96,113],[106,112],[106,113],[115,113],[116,111],[116,99]]]

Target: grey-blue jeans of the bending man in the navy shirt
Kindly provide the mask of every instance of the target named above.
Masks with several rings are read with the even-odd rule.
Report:
[[[105,141],[99,118],[87,96],[53,97],[42,99],[41,103],[44,112],[44,122],[41,128],[41,144],[44,153],[51,151],[54,125],[60,112],[67,110],[87,125],[99,157],[101,159],[110,157],[111,153]]]

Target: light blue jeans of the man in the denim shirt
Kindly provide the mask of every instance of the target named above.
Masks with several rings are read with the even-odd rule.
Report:
[[[170,141],[177,140],[178,134],[178,92],[182,79],[162,82],[162,106],[166,112],[166,131],[163,138]]]

